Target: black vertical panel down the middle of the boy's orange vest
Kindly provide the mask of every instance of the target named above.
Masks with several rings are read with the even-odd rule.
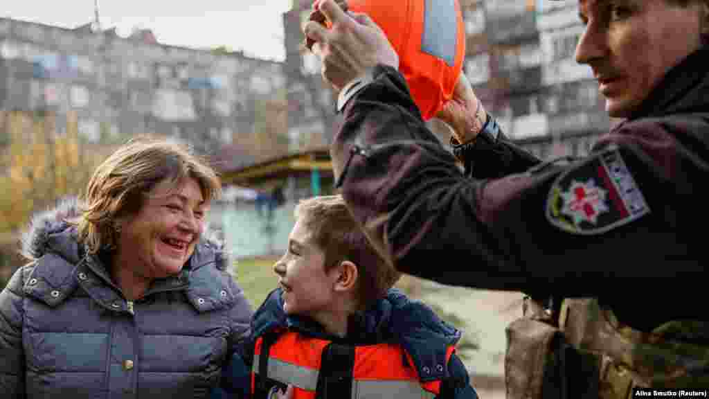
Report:
[[[354,379],[354,346],[330,342],[320,357],[316,399],[350,398]]]

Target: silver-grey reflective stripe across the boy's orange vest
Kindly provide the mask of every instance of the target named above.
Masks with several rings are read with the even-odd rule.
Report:
[[[259,356],[254,357],[254,373],[259,372]],[[268,378],[303,390],[315,391],[318,386],[318,370],[269,358]],[[352,382],[352,399],[433,399],[435,394],[421,388],[417,381],[406,380],[357,380]]]

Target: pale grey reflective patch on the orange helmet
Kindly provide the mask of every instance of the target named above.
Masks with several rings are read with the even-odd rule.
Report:
[[[421,51],[455,65],[458,14],[455,0],[426,0]]]

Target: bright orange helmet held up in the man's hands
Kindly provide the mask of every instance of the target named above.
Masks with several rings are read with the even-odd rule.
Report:
[[[463,68],[465,27],[459,0],[346,0],[346,4],[381,27],[398,54],[399,71],[423,119],[435,116],[451,99]]]

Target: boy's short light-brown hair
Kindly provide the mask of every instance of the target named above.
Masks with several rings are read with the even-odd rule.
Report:
[[[311,242],[325,253],[325,271],[342,261],[357,265],[360,305],[367,307],[383,297],[401,276],[369,244],[341,195],[301,200],[294,213],[310,231]]]

